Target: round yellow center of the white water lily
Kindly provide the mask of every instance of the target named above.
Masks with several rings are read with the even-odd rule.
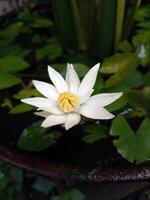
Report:
[[[79,102],[76,95],[71,92],[63,92],[58,98],[58,105],[63,112],[73,112]]]

